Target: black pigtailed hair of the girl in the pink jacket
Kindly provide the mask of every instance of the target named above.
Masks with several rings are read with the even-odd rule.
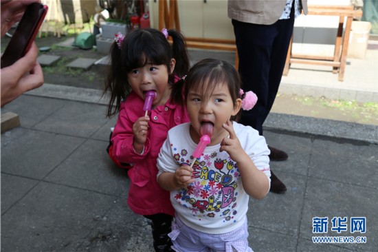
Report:
[[[175,76],[184,76],[190,67],[184,36],[177,30],[168,30],[173,43],[170,45],[166,36],[152,28],[133,30],[126,34],[120,48],[116,42],[111,45],[110,65],[105,81],[104,94],[110,92],[107,116],[120,111],[122,99],[131,92],[127,74],[131,70],[143,67],[146,63],[166,65],[170,73],[170,59],[175,59],[175,70],[168,81],[174,82]]]

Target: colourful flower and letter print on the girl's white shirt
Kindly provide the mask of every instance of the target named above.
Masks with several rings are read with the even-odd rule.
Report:
[[[188,156],[186,149],[177,151],[173,147],[173,151],[178,165],[190,165],[193,157]],[[194,182],[179,189],[175,196],[181,206],[190,209],[199,221],[203,217],[223,218],[223,221],[234,219],[240,173],[227,153],[213,152],[198,158],[193,165],[192,178]]]

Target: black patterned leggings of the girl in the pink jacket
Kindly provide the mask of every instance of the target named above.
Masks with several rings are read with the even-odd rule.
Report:
[[[153,229],[153,247],[157,252],[174,251],[170,248],[172,242],[168,237],[170,233],[173,216],[165,213],[157,213],[152,216],[144,216],[152,221],[151,227]]]

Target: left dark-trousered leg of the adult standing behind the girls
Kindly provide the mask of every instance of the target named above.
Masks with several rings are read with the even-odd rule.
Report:
[[[238,72],[244,92],[252,90],[258,97],[253,109],[242,110],[241,123],[250,125],[263,135],[263,123],[269,98],[271,48],[276,31],[271,25],[257,25],[232,20],[238,50]]]

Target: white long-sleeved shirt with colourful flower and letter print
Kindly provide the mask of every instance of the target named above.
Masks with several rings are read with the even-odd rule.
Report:
[[[249,126],[233,122],[241,146],[270,182],[269,149],[265,138]],[[173,127],[160,149],[159,173],[175,173],[181,165],[192,163],[197,144],[189,134],[190,123]],[[249,196],[245,193],[235,163],[221,145],[208,146],[193,166],[194,182],[170,191],[170,201],[184,224],[204,233],[227,233],[241,227],[246,219]]]

